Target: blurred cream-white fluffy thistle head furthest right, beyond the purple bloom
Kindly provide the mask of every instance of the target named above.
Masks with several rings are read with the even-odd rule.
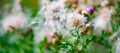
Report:
[[[94,29],[95,31],[98,30],[99,33],[101,33],[101,30],[109,31],[111,32],[111,25],[110,20],[112,16],[112,9],[109,8],[103,8],[100,12],[100,15],[95,18],[94,20]],[[96,31],[97,32],[97,31]]]

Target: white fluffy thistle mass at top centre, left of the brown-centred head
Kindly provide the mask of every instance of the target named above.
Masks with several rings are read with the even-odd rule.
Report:
[[[54,28],[58,24],[58,15],[62,9],[64,9],[63,1],[53,1],[49,3],[49,5],[42,6],[39,14],[43,15],[45,18],[45,25]]]

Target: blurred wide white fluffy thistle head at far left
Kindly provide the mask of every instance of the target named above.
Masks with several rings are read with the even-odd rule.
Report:
[[[25,17],[23,15],[8,15],[1,22],[5,31],[12,30],[11,27],[21,28],[25,24]]]

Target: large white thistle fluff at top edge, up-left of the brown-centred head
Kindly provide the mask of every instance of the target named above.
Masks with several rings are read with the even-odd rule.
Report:
[[[64,5],[61,1],[53,1],[49,5],[46,5],[46,7],[43,6],[43,8],[44,10],[41,11],[40,14],[45,17],[46,22],[49,22],[49,24],[55,24],[55,22],[59,19],[58,13],[64,8]]]

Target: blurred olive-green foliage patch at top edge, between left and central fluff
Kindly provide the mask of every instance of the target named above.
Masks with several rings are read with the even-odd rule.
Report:
[[[35,17],[40,9],[39,0],[22,0],[21,4],[25,14],[30,17]]]

